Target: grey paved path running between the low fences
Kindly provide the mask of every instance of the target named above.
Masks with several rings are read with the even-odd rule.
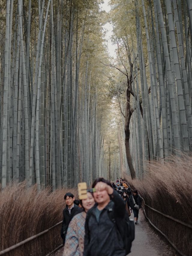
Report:
[[[134,219],[131,213],[130,219]],[[171,250],[163,240],[152,230],[146,222],[142,211],[139,211],[139,224],[135,225],[135,239],[132,243],[129,256],[174,256]],[[51,256],[63,256],[63,247]]]

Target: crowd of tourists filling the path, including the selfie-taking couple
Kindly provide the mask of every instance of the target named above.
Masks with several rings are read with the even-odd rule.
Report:
[[[128,216],[133,211],[138,224],[141,197],[122,178],[112,183],[98,178],[92,188],[87,190],[86,199],[75,200],[70,192],[64,196],[63,255],[127,255],[134,239],[134,224]]]

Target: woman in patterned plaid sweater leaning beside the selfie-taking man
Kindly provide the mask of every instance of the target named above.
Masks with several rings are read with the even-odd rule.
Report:
[[[94,206],[93,194],[87,192],[87,199],[80,200],[83,212],[75,215],[69,223],[63,256],[82,256],[85,236],[85,218],[87,211]]]

